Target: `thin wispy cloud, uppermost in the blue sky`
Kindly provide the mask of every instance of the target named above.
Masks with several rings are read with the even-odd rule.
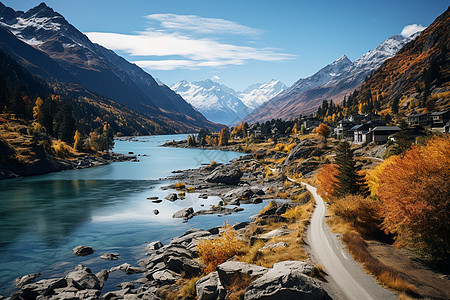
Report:
[[[207,34],[242,34],[257,36],[261,30],[238,24],[233,21],[214,18],[202,18],[195,15],[153,14],[146,18],[159,22],[159,28],[171,31],[188,31]]]

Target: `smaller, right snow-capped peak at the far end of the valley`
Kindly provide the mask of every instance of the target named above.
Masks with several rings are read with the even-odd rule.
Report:
[[[272,79],[266,83],[252,84],[239,93],[239,98],[251,109],[259,107],[279,93],[287,89],[287,86],[279,80]]]

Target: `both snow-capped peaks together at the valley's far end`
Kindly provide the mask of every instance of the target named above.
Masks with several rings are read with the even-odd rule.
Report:
[[[286,88],[275,79],[253,84],[240,92],[210,79],[196,82],[182,80],[171,86],[208,120],[227,125],[237,123]]]

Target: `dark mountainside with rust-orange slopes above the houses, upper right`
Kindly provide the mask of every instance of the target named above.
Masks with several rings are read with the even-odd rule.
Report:
[[[394,101],[404,112],[450,109],[450,8],[417,38],[386,60],[358,90],[357,103],[378,97],[382,108]]]

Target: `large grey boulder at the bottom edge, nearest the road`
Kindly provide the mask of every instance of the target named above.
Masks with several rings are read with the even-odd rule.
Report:
[[[313,278],[304,274],[311,265],[300,261],[284,261],[254,280],[244,299],[331,299]]]

